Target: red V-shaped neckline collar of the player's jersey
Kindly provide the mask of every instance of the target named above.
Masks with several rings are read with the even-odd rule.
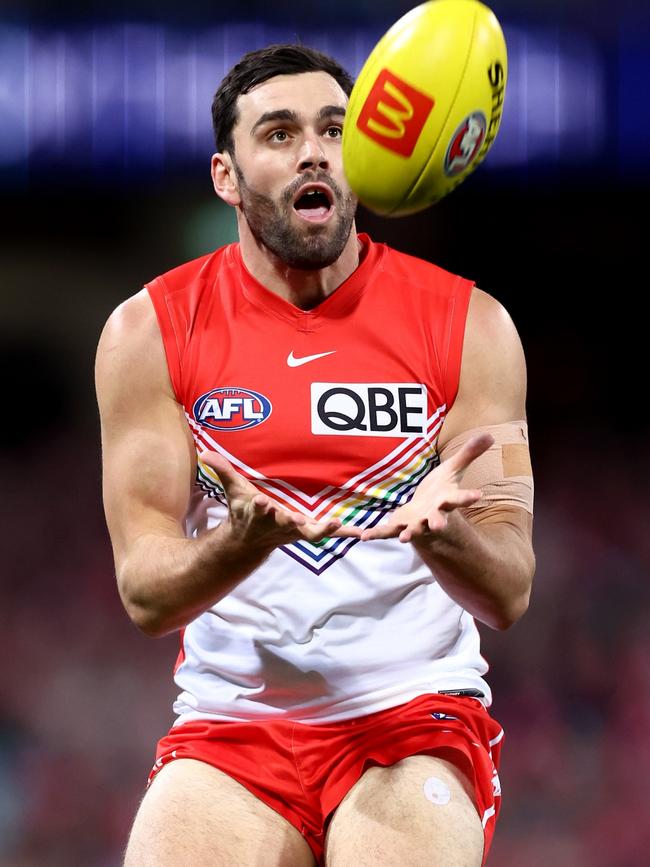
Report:
[[[301,310],[253,277],[244,263],[239,243],[231,244],[229,253],[231,264],[239,272],[244,297],[251,304],[290,322],[300,331],[314,331],[328,320],[340,317],[356,302],[383,258],[383,244],[375,244],[364,232],[357,237],[361,242],[358,266],[331,295],[311,310]]]

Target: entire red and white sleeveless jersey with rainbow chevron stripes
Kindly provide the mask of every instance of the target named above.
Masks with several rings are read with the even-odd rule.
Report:
[[[473,284],[365,235],[360,240],[358,268],[313,310],[296,308],[255,280],[238,244],[147,288],[197,452],[221,452],[289,509],[370,527],[407,502],[437,463],[438,432],[458,389]],[[199,461],[188,534],[225,514],[219,479]],[[389,585],[394,594],[386,596]],[[414,587],[418,593],[404,590]],[[423,604],[421,625],[431,634],[414,641],[413,618],[421,617]],[[353,622],[344,611],[357,611]],[[372,622],[364,625],[366,617]],[[390,630],[385,637],[378,619]],[[394,674],[381,658],[384,640],[410,648],[397,654]],[[177,671],[182,721],[261,713],[335,719],[436,688],[478,686],[488,694],[473,619],[413,547],[397,540],[283,546],[190,624],[184,644]],[[341,670],[343,646],[345,659],[357,665],[354,684]],[[226,650],[217,656],[217,647]],[[268,668],[271,649],[285,666],[319,672],[322,694],[313,684],[278,686],[274,678],[286,680],[286,670],[280,677]],[[206,665],[210,690],[200,679]]]

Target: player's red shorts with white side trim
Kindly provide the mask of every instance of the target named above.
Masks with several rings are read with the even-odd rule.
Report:
[[[367,767],[438,756],[474,786],[485,863],[501,802],[502,738],[477,699],[440,694],[340,722],[201,720],[172,728],[159,741],[149,782],[174,759],[214,765],[291,822],[322,865],[328,821]]]

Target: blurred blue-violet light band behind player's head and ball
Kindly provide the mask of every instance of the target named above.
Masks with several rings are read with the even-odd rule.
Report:
[[[593,44],[575,34],[504,30],[509,83],[487,168],[596,159],[606,92]],[[356,75],[381,36],[372,28],[296,32],[263,23],[184,32],[151,23],[56,32],[0,26],[0,167],[37,161],[159,174],[170,165],[205,165],[212,96],[244,52],[299,39]]]

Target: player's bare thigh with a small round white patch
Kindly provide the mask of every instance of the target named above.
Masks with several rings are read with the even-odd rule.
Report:
[[[410,756],[371,767],[330,823],[326,867],[480,867],[483,828],[472,787],[454,765]]]

